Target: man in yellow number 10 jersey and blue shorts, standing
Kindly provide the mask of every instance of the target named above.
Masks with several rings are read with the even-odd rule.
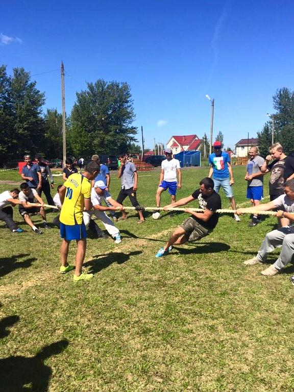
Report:
[[[60,201],[62,204],[60,212],[60,236],[63,238],[61,243],[61,267],[60,272],[64,274],[75,267],[67,262],[69,243],[71,240],[77,241],[76,253],[76,273],[74,281],[88,280],[93,274],[84,274],[82,265],[86,253],[86,228],[83,222],[83,211],[92,208],[91,203],[91,180],[100,171],[99,163],[90,161],[86,165],[83,174],[72,174],[60,188]]]

